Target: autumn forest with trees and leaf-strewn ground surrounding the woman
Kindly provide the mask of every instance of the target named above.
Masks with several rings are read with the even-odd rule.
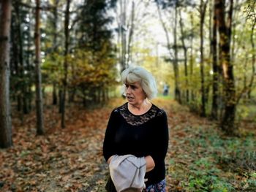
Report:
[[[0,0],[0,15],[0,191],[105,191],[130,65],[167,113],[166,191],[256,191],[255,0]]]

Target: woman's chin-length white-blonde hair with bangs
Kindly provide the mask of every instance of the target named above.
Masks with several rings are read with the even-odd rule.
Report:
[[[121,82],[134,83],[140,82],[143,91],[148,99],[157,96],[157,82],[154,76],[141,66],[129,66],[121,73]]]

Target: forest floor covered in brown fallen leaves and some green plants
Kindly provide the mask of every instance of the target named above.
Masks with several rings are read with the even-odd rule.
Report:
[[[45,107],[45,136],[36,136],[35,115],[13,115],[13,147],[0,150],[0,191],[105,191],[108,166],[102,141],[113,99],[98,109],[67,108],[60,128],[56,107]],[[154,104],[167,112],[170,142],[167,191],[256,191],[256,125],[241,123],[227,137],[216,122],[170,99]]]

